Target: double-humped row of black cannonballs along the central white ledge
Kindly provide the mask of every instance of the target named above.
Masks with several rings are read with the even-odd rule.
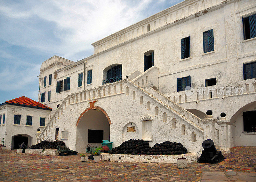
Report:
[[[120,146],[112,148],[109,154],[132,154],[132,155],[180,155],[186,154],[188,150],[177,142],[156,143],[154,147],[149,147],[144,140],[127,140]]]

